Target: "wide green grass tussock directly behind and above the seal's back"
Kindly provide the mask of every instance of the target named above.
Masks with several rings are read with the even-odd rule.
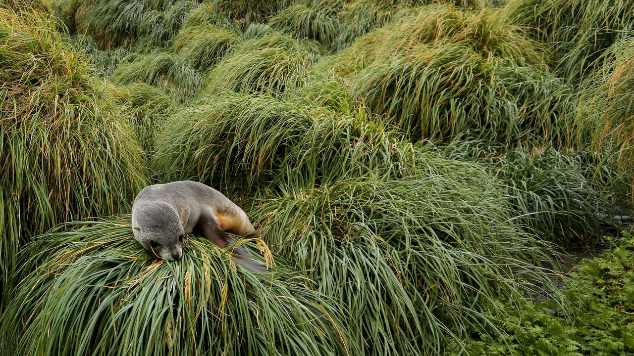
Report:
[[[252,190],[287,168],[320,180],[382,169],[387,179],[417,162],[411,143],[366,110],[344,116],[301,98],[225,91],[174,111],[157,135],[155,168],[165,181]]]

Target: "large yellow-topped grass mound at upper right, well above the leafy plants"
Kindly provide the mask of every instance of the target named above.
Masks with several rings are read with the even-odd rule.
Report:
[[[446,5],[403,11],[314,68],[330,72],[353,102],[389,115],[414,140],[466,134],[561,143],[574,109],[571,87],[495,11]]]

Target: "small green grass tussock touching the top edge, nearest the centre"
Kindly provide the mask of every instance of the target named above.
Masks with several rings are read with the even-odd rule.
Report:
[[[342,30],[337,15],[341,5],[329,1],[323,3],[311,1],[292,4],[271,18],[268,24],[300,39],[313,39],[329,46]]]

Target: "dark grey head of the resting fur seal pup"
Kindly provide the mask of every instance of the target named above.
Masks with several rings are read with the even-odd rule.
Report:
[[[141,246],[165,260],[176,261],[183,257],[185,231],[174,208],[153,203],[139,208],[135,215],[133,233]]]

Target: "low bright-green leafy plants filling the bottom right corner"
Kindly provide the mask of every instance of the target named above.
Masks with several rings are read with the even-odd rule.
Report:
[[[585,260],[566,283],[575,300],[571,314],[547,303],[507,307],[499,336],[470,341],[470,355],[634,355],[634,239],[624,239],[601,257]],[[555,314],[553,314],[555,312]],[[446,355],[457,355],[448,352]]]

